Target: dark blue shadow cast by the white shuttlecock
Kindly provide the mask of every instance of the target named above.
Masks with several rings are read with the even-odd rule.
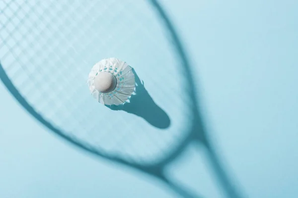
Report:
[[[136,71],[133,69],[136,80],[135,95],[132,95],[130,102],[122,105],[106,105],[112,110],[123,110],[135,114],[145,119],[149,124],[160,129],[166,129],[170,126],[170,118],[167,113],[161,109],[151,98],[145,89],[144,82],[140,80]]]

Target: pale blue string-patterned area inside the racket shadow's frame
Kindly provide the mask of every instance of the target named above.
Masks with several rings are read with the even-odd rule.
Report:
[[[187,135],[187,77],[147,1],[1,0],[0,10],[1,65],[20,94],[61,133],[136,163],[161,160]],[[169,115],[168,128],[92,98],[88,73],[108,57],[134,67]]]

